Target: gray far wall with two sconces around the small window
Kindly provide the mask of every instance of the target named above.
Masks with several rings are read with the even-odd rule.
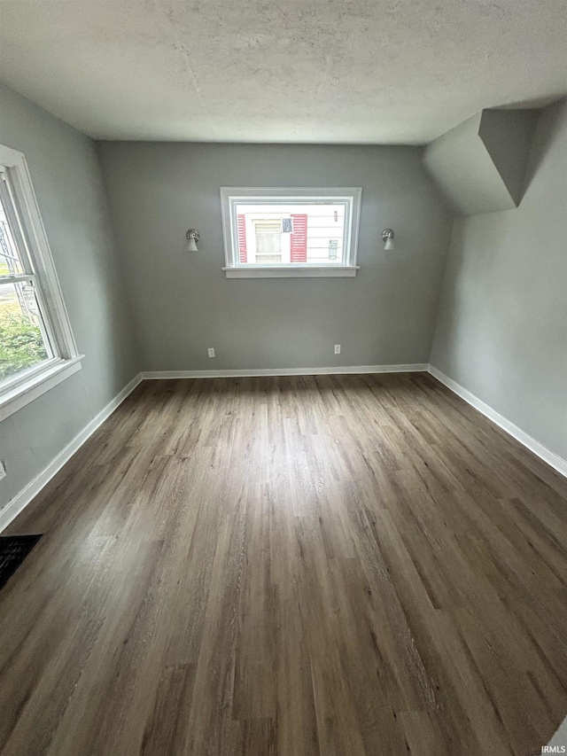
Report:
[[[428,362],[452,219],[421,149],[120,142],[98,149],[145,370]],[[361,186],[358,276],[227,279],[225,185]],[[185,252],[190,227],[201,235],[198,253]],[[380,239],[386,227],[395,231],[392,253]]]

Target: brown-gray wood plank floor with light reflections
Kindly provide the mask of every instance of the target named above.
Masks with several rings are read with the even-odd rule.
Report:
[[[7,533],[3,756],[532,756],[567,480],[424,374],[144,382]]]

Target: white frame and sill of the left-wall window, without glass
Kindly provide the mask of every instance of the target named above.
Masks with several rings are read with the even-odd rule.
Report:
[[[14,283],[21,280],[33,281],[38,300],[41,301],[50,347],[54,353],[49,359],[0,382],[2,421],[72,376],[77,370],[81,370],[84,355],[79,354],[74,341],[24,154],[0,144],[0,174],[8,176],[11,201],[6,211],[9,212],[12,205],[14,206],[19,227],[18,236],[26,248],[27,258],[33,268],[31,273],[3,277],[3,280],[13,280]],[[5,183],[1,175],[0,181]]]

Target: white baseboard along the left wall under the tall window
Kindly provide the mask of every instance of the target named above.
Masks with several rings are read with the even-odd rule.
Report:
[[[2,533],[4,528],[10,525],[14,518],[18,517],[19,512],[27,507],[27,504],[31,502],[34,496],[39,494],[42,488],[49,483],[50,479],[59,472],[63,465],[71,459],[74,453],[82,447],[84,442],[88,440],[89,437],[95,433],[97,428],[105,422],[105,419],[113,414],[114,409],[126,399],[128,394],[131,394],[134,391],[141,380],[142,376],[138,373],[136,378],[132,378],[128,383],[128,386],[124,386],[120,391],[120,394],[115,396],[112,401],[109,401],[105,408],[101,409],[97,416],[93,417],[88,425],[85,425],[81,433],[77,433],[74,439],[58,453],[58,456],[56,456],[55,459],[53,459],[50,464],[39,473],[39,475],[36,475],[25,488],[22,488],[19,494],[15,495],[13,499],[7,503],[4,509],[0,511],[0,533]]]

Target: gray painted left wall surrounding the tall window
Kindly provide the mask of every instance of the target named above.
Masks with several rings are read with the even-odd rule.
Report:
[[[82,370],[0,423],[0,510],[139,370],[94,144],[0,85],[0,143],[24,152]]]

